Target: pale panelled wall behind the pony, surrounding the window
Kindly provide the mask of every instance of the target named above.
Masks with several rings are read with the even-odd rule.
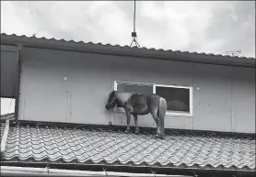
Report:
[[[134,81],[193,86],[193,116],[167,116],[166,127],[252,133],[255,132],[254,72],[225,66],[23,48],[18,117],[101,125],[111,121],[113,125],[125,126],[124,114],[113,114],[104,106],[114,80]],[[64,77],[68,80],[64,81]],[[156,127],[150,115],[139,116],[139,126]]]

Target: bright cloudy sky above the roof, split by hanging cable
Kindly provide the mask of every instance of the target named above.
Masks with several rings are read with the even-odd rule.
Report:
[[[130,45],[134,1],[1,1],[1,33]],[[137,1],[141,47],[255,58],[255,1]],[[1,115],[14,101],[1,98]]]

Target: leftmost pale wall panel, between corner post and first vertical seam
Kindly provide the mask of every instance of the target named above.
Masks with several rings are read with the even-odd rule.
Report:
[[[48,50],[22,50],[20,107],[25,120],[68,122],[68,67],[64,58]],[[44,55],[43,55],[44,54]]]

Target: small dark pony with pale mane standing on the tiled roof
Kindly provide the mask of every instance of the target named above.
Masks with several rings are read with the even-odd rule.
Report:
[[[125,111],[127,117],[127,127],[125,133],[130,132],[131,115],[134,116],[135,134],[139,133],[138,115],[145,116],[151,114],[157,124],[156,138],[164,139],[165,116],[167,111],[166,99],[158,94],[138,94],[112,91],[105,108],[111,110],[119,105]]]

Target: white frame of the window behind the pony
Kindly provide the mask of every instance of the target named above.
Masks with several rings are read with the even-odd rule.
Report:
[[[193,116],[193,106],[192,106],[192,86],[182,86],[182,85],[169,85],[169,84],[158,84],[158,83],[140,83],[140,82],[125,82],[125,81],[114,81],[113,84],[113,90],[117,91],[117,85],[118,83],[129,83],[129,84],[136,84],[136,85],[150,85],[153,87],[152,94],[156,94],[156,87],[169,87],[169,88],[183,88],[183,89],[189,89],[190,91],[190,113],[182,113],[182,112],[174,112],[167,110],[166,115],[168,116]],[[115,112],[124,112],[124,109],[121,107],[115,107]]]

